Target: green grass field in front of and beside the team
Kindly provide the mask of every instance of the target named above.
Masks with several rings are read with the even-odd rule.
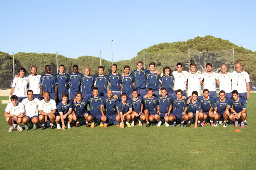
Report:
[[[0,97],[0,100],[8,97]],[[256,169],[256,94],[241,132],[219,125],[194,129],[143,125],[8,132],[0,104],[0,169]]]

